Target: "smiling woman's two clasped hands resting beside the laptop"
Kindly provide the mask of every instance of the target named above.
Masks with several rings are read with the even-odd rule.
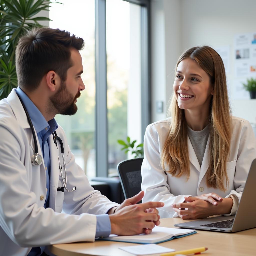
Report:
[[[182,219],[201,219],[212,215],[228,214],[232,205],[232,198],[225,198],[224,202],[219,195],[209,193],[196,197],[185,197],[185,202],[173,204],[172,207]]]

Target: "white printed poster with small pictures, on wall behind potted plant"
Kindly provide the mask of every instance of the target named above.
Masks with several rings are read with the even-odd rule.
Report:
[[[246,83],[247,78],[256,77],[256,32],[235,36],[234,58],[234,98],[250,99],[243,83]]]

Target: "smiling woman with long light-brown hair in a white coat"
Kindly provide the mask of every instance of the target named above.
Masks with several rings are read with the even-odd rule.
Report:
[[[231,116],[225,68],[208,46],[178,60],[172,118],[146,129],[143,202],[162,201],[161,218],[234,215],[256,140],[250,123]]]

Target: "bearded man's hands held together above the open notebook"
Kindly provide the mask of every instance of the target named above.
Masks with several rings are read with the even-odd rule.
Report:
[[[132,198],[126,199],[115,211],[115,214],[109,216],[111,222],[111,234],[119,236],[129,236],[135,234],[150,234],[155,225],[160,224],[160,216],[156,208],[163,207],[162,202],[147,202],[136,204],[144,196],[144,192]]]

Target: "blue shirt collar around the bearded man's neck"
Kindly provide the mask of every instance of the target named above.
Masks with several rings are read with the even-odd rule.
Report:
[[[39,109],[36,107],[36,105],[28,98],[25,92],[22,91],[19,87],[16,89],[16,93],[20,96],[22,99],[29,117],[32,121],[32,124],[34,125],[36,129],[36,133],[41,132],[46,127],[50,128],[52,132],[54,132],[58,128],[58,124],[55,119],[50,120],[49,122],[46,121],[42,113],[39,111]]]

